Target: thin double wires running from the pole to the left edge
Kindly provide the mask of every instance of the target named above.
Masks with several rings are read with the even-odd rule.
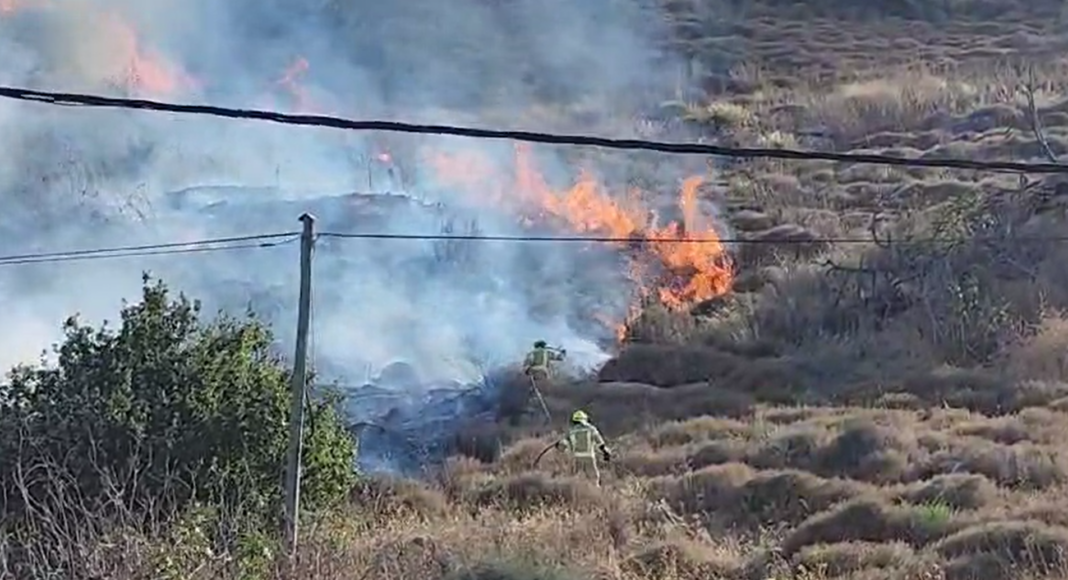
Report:
[[[299,232],[284,234],[260,234],[254,236],[238,236],[195,241],[175,241],[169,244],[151,244],[144,246],[119,246],[113,248],[97,248],[92,250],[72,250],[66,252],[42,252],[0,256],[0,266],[21,264],[45,264],[52,262],[75,262],[85,260],[107,260],[112,257],[137,257],[153,255],[174,255],[199,252],[218,252],[225,250],[242,250],[253,248],[272,248],[295,241]],[[279,239],[287,238],[287,239]],[[255,241],[255,240],[274,241]],[[245,241],[245,244],[235,244]]]

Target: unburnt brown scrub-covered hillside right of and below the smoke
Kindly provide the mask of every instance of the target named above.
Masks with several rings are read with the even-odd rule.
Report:
[[[700,90],[654,107],[645,131],[1062,159],[1063,10],[666,1],[664,42]],[[545,393],[554,427],[582,408],[610,438],[602,488],[556,454],[531,469],[551,441],[536,422],[472,425],[433,481],[361,481],[303,529],[293,569],[267,539],[213,550],[237,532],[195,514],[163,535],[52,539],[122,579],[160,577],[144,557],[160,551],[169,578],[1068,578],[1065,179],[714,163],[701,197],[724,237],[757,241],[729,246],[731,291],[647,307],[599,376]]]

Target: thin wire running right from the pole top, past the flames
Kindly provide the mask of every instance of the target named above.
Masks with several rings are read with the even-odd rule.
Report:
[[[972,237],[925,237],[925,238],[899,238],[899,239],[873,239],[870,237],[792,237],[783,239],[772,238],[649,238],[649,237],[601,237],[601,236],[480,236],[480,235],[446,235],[446,234],[383,234],[383,233],[337,233],[323,232],[321,237],[332,237],[342,239],[408,239],[408,240],[456,240],[456,241],[517,241],[517,242],[547,242],[560,241],[572,242],[595,242],[595,244],[721,244],[733,245],[766,245],[766,246],[789,246],[789,245],[815,245],[815,244],[875,244],[882,245],[924,245],[924,244],[953,244],[963,241],[1039,241],[1039,242],[1064,242],[1068,241],[1065,236],[972,236]]]

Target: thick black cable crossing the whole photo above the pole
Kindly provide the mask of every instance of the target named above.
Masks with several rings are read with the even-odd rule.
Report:
[[[288,114],[257,109],[233,109],[210,105],[179,105],[158,100],[106,97],[80,93],[33,91],[30,89],[20,89],[15,87],[0,87],[0,97],[69,107],[137,109],[221,116],[227,119],[268,121],[285,125],[420,135],[452,135],[476,139],[508,139],[513,141],[549,143],[556,145],[585,145],[613,150],[657,151],[675,155],[711,155],[742,159],[764,157],[770,159],[874,163],[914,168],[969,169],[1003,173],[1068,173],[1068,164],[1064,163],[1022,163],[1016,161],[973,161],[971,159],[902,158],[875,154],[829,153],[768,147],[726,147],[704,143],[673,143],[664,141],[647,141],[643,139],[609,139],[606,137],[594,137],[588,135],[551,135],[533,131],[485,129],[453,125],[424,125],[393,121],[352,121],[329,115]]]

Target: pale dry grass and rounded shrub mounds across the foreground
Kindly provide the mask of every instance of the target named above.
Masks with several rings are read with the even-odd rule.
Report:
[[[546,439],[521,439],[493,464],[454,458],[436,483],[362,482],[347,508],[305,526],[293,577],[1063,577],[1065,437],[1068,416],[1042,407],[991,418],[756,406],[615,438],[600,489],[556,454],[531,470]],[[92,529],[66,537],[66,555],[101,577],[164,564],[186,566],[186,578],[235,577],[237,562],[249,566],[236,548],[198,551],[188,535],[168,540],[177,561],[130,559],[161,538],[120,527],[116,549],[107,526]],[[246,577],[290,577],[268,555]]]

